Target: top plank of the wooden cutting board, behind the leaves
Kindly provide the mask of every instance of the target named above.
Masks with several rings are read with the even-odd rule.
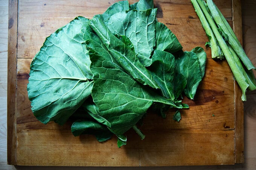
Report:
[[[97,3],[95,3],[97,2]],[[83,1],[81,6],[73,5],[72,0],[55,1],[19,1],[18,20],[18,58],[32,58],[40,50],[45,38],[56,29],[73,20],[76,16],[92,18],[95,14],[104,12],[110,4],[117,0]],[[137,2],[130,0],[130,3]],[[194,12],[193,6],[188,0],[158,0],[154,1],[158,7],[157,18],[166,24],[177,36],[179,41],[184,42],[184,50],[192,50],[198,41],[204,47],[207,37],[201,23]],[[232,1],[216,0],[226,18],[232,18]],[[160,8],[159,8],[160,7]],[[93,9],[93,10],[92,10]],[[177,12],[178,11],[178,12]],[[34,16],[34,17],[31,17]],[[180,20],[183,20],[180,22]],[[191,22],[193,21],[193,22]],[[184,25],[187,25],[186,27]],[[197,36],[191,32],[198,32]],[[203,38],[202,38],[203,37]],[[196,38],[196,39],[195,39]]]

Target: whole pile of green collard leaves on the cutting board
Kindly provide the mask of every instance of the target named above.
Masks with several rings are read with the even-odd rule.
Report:
[[[120,1],[92,19],[76,17],[46,38],[30,66],[27,85],[42,123],[74,121],[75,136],[93,134],[117,146],[151,107],[188,108],[203,76],[206,53],[183,51],[176,36],[157,21],[152,0]]]

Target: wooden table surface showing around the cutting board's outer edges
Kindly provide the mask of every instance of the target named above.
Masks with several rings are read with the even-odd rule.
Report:
[[[7,62],[7,21],[8,21],[8,2],[1,0],[0,1],[0,74],[1,74],[1,108],[0,108],[0,169],[7,169],[7,168],[14,168],[12,166],[6,165],[6,62]],[[253,0],[242,1],[242,21],[243,21],[243,45],[245,51],[247,52],[249,58],[252,60],[254,65],[256,64],[256,57],[253,54],[256,52],[254,45],[256,42],[256,19],[254,18],[255,15],[255,7],[256,4]],[[247,102],[244,102],[244,114],[245,114],[245,164],[239,165],[229,165],[229,166],[208,166],[207,168],[244,168],[250,169],[252,167],[256,167],[256,145],[254,144],[255,141],[255,129],[256,129],[256,113],[255,113],[255,102],[256,102],[256,93],[251,92],[247,95]],[[3,153],[3,154],[1,154]],[[16,167],[23,169],[24,167]],[[185,167],[177,167],[177,169],[183,169]],[[192,167],[186,167],[192,168]],[[193,167],[198,168],[198,167]],[[200,168],[206,168],[205,166]],[[26,167],[27,169],[27,167]]]

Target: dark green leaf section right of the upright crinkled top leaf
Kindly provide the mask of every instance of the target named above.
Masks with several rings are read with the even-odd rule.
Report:
[[[182,49],[177,37],[163,23],[155,23],[155,39],[156,50],[167,51],[173,54]]]

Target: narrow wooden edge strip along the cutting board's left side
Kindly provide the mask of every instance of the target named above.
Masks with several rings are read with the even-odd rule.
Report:
[[[18,4],[9,0],[8,24],[8,95],[7,95],[7,160],[15,165],[17,134],[16,134],[16,72],[17,72],[17,20]]]

